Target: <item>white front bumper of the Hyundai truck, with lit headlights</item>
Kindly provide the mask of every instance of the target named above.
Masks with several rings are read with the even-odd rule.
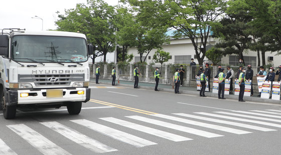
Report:
[[[47,90],[17,90],[9,91],[9,105],[15,104],[40,104],[40,103],[53,103],[53,102],[87,102],[90,100],[89,88],[72,88],[72,89],[55,89],[62,90],[63,96],[60,98],[48,98],[46,95]],[[84,94],[77,94],[77,91],[84,91]],[[21,97],[22,93],[28,93],[28,97]],[[18,99],[16,102],[15,100]]]

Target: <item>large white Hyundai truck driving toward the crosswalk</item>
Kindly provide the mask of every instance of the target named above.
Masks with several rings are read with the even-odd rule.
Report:
[[[84,34],[3,29],[0,33],[0,110],[6,119],[24,106],[60,108],[77,115],[90,100]]]

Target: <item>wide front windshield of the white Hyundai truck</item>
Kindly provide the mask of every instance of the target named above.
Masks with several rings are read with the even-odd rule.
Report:
[[[20,62],[84,62],[88,60],[84,38],[58,36],[15,36],[11,57]]]

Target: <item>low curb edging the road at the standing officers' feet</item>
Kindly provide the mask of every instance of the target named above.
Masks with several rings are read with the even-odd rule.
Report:
[[[105,85],[111,85],[111,82],[110,83],[99,82],[99,83],[105,84]],[[117,86],[132,87],[132,85],[130,85],[130,84],[117,84]],[[142,89],[154,90],[154,87],[149,87],[149,86],[138,86],[138,87],[142,88]],[[174,89],[169,89],[169,88],[158,88],[158,90],[163,91],[163,92],[174,92]],[[180,90],[180,93],[199,96],[199,91]],[[205,95],[208,97],[215,97],[215,98],[218,97],[217,94],[210,93],[210,92],[205,92]],[[225,95],[225,98],[238,100],[238,96],[236,96],[236,95],[235,96],[234,95]],[[253,98],[253,97],[243,97],[243,99],[245,101],[250,101],[250,102],[281,104],[280,100],[261,99],[261,98]]]

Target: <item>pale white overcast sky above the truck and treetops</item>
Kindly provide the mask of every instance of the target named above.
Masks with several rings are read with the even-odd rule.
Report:
[[[104,0],[107,4],[115,6],[118,0]],[[57,11],[64,14],[64,10],[76,8],[78,3],[87,3],[87,0],[1,0],[0,1],[0,30],[4,28],[21,28],[29,31],[41,31],[57,28]],[[96,58],[100,61],[102,57]],[[107,54],[107,60],[113,61],[114,54]]]

